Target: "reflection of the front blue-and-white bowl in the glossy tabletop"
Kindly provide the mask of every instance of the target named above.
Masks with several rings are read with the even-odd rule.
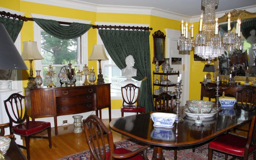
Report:
[[[150,137],[160,140],[174,140],[175,135],[172,129],[154,127],[150,134]]]

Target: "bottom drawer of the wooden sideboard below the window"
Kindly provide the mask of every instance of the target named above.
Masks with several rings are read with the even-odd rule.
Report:
[[[57,115],[70,115],[96,110],[96,101],[82,103],[82,104],[70,104],[62,105],[56,108]]]

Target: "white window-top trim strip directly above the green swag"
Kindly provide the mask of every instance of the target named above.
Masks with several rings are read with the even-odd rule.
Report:
[[[56,20],[61,22],[77,22],[77,23],[84,23],[84,24],[90,24],[91,21],[88,20],[78,20],[78,19],[72,19],[72,18],[65,18],[65,17],[54,17],[54,16],[47,16],[47,15],[41,15],[41,14],[31,14],[33,18],[41,18],[46,20]]]

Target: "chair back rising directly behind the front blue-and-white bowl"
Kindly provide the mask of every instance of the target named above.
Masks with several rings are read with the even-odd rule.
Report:
[[[173,108],[173,97],[166,92],[161,93],[158,95],[157,98],[154,100],[154,106],[156,111],[169,109],[170,107]]]

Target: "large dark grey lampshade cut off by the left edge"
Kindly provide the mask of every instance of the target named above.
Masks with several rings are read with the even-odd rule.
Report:
[[[27,66],[15,47],[3,23],[0,23],[0,69],[27,70]]]

